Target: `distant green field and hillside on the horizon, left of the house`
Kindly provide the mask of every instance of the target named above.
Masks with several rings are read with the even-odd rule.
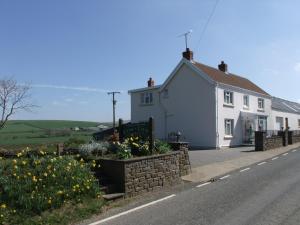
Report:
[[[108,123],[66,120],[15,120],[0,130],[0,147],[24,147],[65,142],[69,138],[89,141],[98,125]],[[80,128],[74,131],[74,128]]]

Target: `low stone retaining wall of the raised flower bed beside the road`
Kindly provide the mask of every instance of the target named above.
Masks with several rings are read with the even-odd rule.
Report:
[[[181,182],[190,171],[188,151],[173,151],[161,155],[127,160],[99,159],[99,173],[109,178],[117,191],[132,197]]]

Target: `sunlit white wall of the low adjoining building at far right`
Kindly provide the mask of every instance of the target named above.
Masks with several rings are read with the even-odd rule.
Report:
[[[288,113],[288,112],[281,112],[279,110],[272,110],[271,120],[272,120],[272,130],[278,130],[276,126],[276,117],[282,118],[283,124],[282,126],[285,128],[285,118],[288,118],[288,123],[290,130],[299,130],[300,127],[298,126],[298,120],[300,120],[299,114]]]

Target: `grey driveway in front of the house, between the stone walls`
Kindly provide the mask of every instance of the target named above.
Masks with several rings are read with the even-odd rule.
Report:
[[[204,166],[216,162],[224,162],[231,159],[253,154],[254,147],[222,148],[220,150],[191,150],[189,151],[192,168]]]

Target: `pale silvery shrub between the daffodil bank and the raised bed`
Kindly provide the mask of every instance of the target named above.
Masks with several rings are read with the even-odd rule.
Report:
[[[104,155],[108,151],[108,142],[91,142],[89,144],[83,144],[79,146],[79,154],[82,157],[88,157],[92,155]]]

